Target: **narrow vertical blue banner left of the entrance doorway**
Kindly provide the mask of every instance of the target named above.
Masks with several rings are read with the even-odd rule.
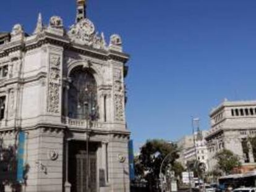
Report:
[[[23,164],[24,164],[24,146],[25,146],[25,133],[20,131],[19,133],[19,144],[17,154],[17,181],[23,182]]]

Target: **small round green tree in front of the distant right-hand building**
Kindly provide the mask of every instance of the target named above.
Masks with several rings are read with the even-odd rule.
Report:
[[[230,174],[234,167],[241,166],[239,157],[228,149],[223,149],[215,155],[217,165],[225,174]]]

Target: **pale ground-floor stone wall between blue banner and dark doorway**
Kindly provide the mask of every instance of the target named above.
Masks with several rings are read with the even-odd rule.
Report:
[[[51,159],[51,152],[57,159]],[[63,133],[41,128],[28,131],[25,146],[25,164],[28,172],[26,191],[62,191]]]

